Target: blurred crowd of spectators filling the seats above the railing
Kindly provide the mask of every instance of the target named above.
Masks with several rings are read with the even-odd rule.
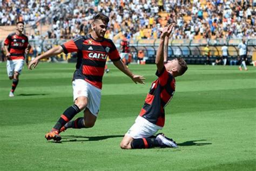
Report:
[[[48,38],[72,38],[90,31],[92,18],[103,12],[110,17],[106,37],[158,38],[157,29],[176,22],[175,39],[252,38],[255,4],[250,0],[0,0],[0,25],[17,20],[37,29],[50,24]],[[31,38],[40,35],[31,35]]]

